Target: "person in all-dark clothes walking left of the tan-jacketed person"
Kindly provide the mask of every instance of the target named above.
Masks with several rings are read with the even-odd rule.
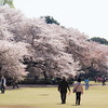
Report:
[[[62,104],[66,104],[67,89],[70,92],[68,82],[66,81],[66,78],[63,77],[63,80],[58,84],[58,91],[60,93]]]

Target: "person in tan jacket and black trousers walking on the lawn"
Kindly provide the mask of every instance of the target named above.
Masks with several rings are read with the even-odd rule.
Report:
[[[80,105],[81,94],[83,94],[81,79],[78,79],[78,82],[73,85],[73,93],[76,93],[76,105]]]

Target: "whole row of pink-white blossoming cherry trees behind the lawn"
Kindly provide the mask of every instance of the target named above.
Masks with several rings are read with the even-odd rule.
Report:
[[[55,78],[66,75],[108,72],[108,45],[89,41],[75,28],[27,18],[22,12],[0,6],[0,75]]]

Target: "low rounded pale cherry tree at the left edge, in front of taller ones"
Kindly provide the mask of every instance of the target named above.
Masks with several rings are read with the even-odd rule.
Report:
[[[0,40],[0,76],[17,80],[26,76],[25,66],[21,62],[23,55],[27,54],[24,46],[24,43]]]

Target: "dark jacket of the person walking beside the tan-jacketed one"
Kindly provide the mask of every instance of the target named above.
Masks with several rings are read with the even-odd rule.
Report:
[[[66,80],[62,80],[58,84],[58,91],[60,93],[67,93],[67,89],[70,91],[68,82]]]

